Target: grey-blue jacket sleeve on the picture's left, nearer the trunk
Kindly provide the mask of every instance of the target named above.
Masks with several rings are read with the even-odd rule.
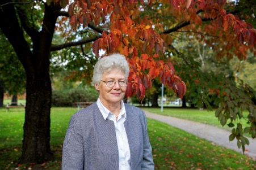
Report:
[[[62,149],[62,170],[82,170],[84,156],[81,124],[77,114],[74,114]]]

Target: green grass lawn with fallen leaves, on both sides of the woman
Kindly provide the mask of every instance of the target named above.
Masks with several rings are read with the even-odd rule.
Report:
[[[18,158],[21,155],[24,108],[12,108],[9,112],[0,108],[0,169],[61,169],[62,142],[69,119],[76,110],[71,107],[52,108],[53,160],[44,164],[20,165]],[[155,112],[153,108],[149,111]],[[186,113],[190,111],[193,112],[187,110]],[[175,113],[183,114],[179,109]],[[197,117],[202,119],[201,116]],[[156,169],[256,169],[255,160],[160,121],[148,119],[148,132]]]

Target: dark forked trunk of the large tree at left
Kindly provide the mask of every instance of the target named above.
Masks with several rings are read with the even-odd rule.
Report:
[[[28,23],[26,12],[18,8],[20,27],[15,7],[11,1],[0,10],[0,28],[14,47],[27,76],[26,84],[26,115],[24,123],[22,158],[20,163],[43,163],[51,159],[50,149],[50,110],[51,110],[51,79],[49,76],[49,59],[54,27],[57,20],[58,3],[47,6],[45,3],[44,20],[40,32]],[[24,7],[23,7],[24,9]],[[23,29],[31,37],[33,50],[26,42]]]

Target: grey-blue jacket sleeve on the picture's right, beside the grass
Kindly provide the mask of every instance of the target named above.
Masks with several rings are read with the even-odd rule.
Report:
[[[143,112],[144,115],[144,151],[143,151],[143,160],[141,169],[144,170],[153,170],[154,169],[154,162],[153,162],[153,155],[152,155],[152,147],[149,142],[149,136],[148,136],[148,123],[146,121],[146,115]]]

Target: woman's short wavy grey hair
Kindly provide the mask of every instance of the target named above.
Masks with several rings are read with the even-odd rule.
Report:
[[[129,64],[125,59],[125,56],[121,54],[111,54],[100,58],[95,64],[93,71],[93,84],[99,84],[103,73],[106,73],[115,68],[123,71],[125,79],[128,79]]]

